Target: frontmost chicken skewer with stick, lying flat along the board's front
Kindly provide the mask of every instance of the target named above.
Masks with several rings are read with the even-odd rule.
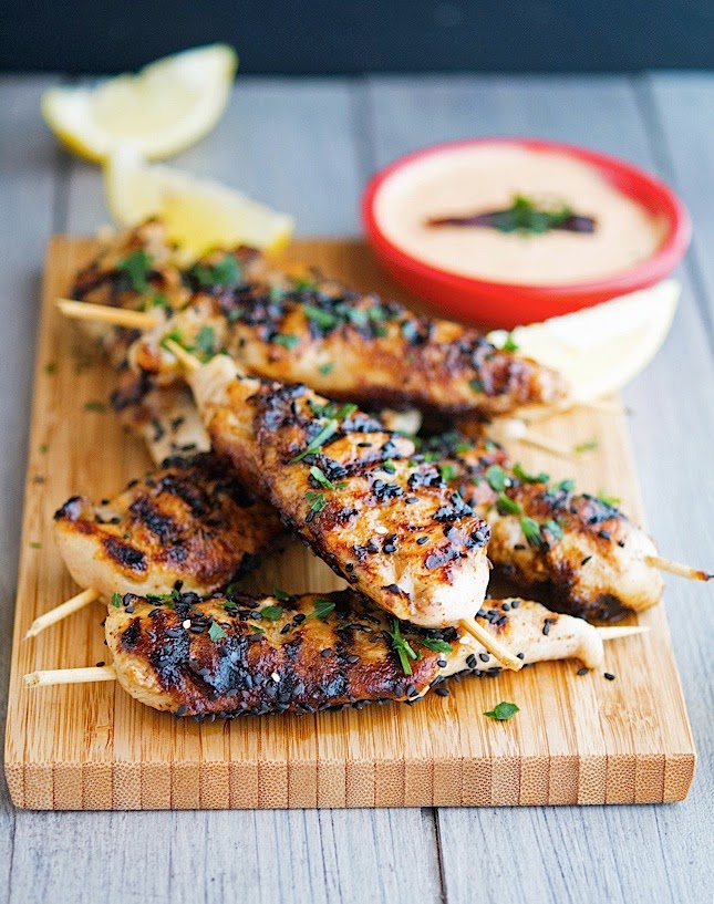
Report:
[[[485,630],[524,663],[578,658],[587,668],[602,666],[602,637],[586,622],[518,599],[488,605],[496,617],[482,619]],[[105,632],[112,667],[33,673],[25,682],[116,677],[156,709],[232,718],[414,703],[432,687],[446,693],[442,682],[449,675],[500,671],[468,634],[400,623],[351,590],[280,600],[230,594],[201,601],[184,593],[170,607],[126,594],[110,606]]]

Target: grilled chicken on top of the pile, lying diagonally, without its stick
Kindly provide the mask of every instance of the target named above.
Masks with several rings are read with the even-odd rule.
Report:
[[[487,524],[411,439],[304,386],[240,377],[216,355],[189,375],[216,451],[338,574],[399,619],[473,619]]]

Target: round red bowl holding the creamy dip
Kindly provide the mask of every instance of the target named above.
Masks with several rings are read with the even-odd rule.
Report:
[[[469,145],[515,145],[529,150],[557,152],[589,164],[623,195],[664,219],[665,236],[652,257],[612,277],[557,285],[524,285],[464,277],[411,257],[393,245],[374,216],[384,184],[426,156]],[[617,295],[653,285],[666,277],[684,256],[691,237],[686,209],[664,183],[631,164],[573,145],[535,138],[474,138],[416,150],[389,164],[370,180],[362,197],[362,219],[374,253],[399,282],[443,313],[466,321],[511,329],[597,304]]]

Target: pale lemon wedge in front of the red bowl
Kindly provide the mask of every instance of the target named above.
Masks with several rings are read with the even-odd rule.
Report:
[[[575,402],[591,402],[619,392],[652,361],[672,325],[681,287],[664,280],[593,308],[517,326],[495,330],[489,340],[503,347],[508,336],[520,354],[558,370]]]

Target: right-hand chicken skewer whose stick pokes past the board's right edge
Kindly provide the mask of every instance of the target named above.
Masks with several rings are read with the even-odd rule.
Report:
[[[490,526],[488,557],[497,572],[529,594],[540,589],[558,611],[617,620],[660,601],[662,570],[710,578],[662,559],[612,500],[578,495],[572,480],[529,475],[488,439],[446,434],[421,457],[436,457],[448,485]]]

